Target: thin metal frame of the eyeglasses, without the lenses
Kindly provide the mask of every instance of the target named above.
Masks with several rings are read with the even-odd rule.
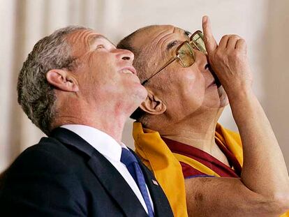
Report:
[[[155,75],[157,75],[158,73],[160,73],[161,70],[163,70],[164,68],[166,68],[167,66],[169,66],[169,65],[170,65],[171,63],[173,63],[176,59],[179,59],[179,61],[181,61],[181,59],[179,58],[178,52],[179,52],[179,48],[181,48],[181,46],[183,46],[185,43],[187,43],[189,47],[193,48],[193,50],[196,48],[197,50],[199,50],[200,52],[202,52],[202,51],[199,49],[198,45],[196,45],[195,42],[193,41],[193,36],[195,36],[196,34],[199,34],[200,38],[202,38],[202,40],[204,41],[204,37],[203,37],[202,31],[200,31],[200,30],[195,31],[195,32],[190,36],[190,40],[189,40],[189,41],[188,41],[188,40],[185,40],[183,43],[181,43],[181,44],[177,47],[177,49],[176,49],[176,57],[172,57],[172,58],[171,58],[167,63],[165,63],[165,65],[163,65],[156,73],[154,73],[153,75],[151,75],[151,77],[149,77],[149,78],[147,78],[146,80],[144,80],[141,84],[144,85],[145,83],[147,83],[152,77],[154,77]],[[193,45],[195,46],[195,48],[192,47],[191,43],[193,43]],[[192,51],[193,51],[193,50],[192,50]],[[204,52],[204,53],[207,54],[207,52]],[[194,57],[193,57],[193,58],[194,58],[194,62],[193,62],[193,63],[195,63],[195,54],[194,54],[194,53],[193,53],[193,56],[194,56]],[[181,61],[181,63],[182,63],[182,61]],[[193,64],[192,64],[192,65],[193,65]],[[191,66],[192,66],[192,65],[191,65]],[[184,63],[182,63],[182,66],[183,66],[184,68],[186,68],[186,66],[184,66]],[[187,67],[189,67],[189,66],[187,66]]]

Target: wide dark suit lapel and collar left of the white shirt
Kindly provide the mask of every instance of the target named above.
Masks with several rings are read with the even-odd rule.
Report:
[[[103,188],[119,204],[119,207],[124,211],[126,216],[147,216],[138,197],[133,193],[133,190],[125,179],[94,147],[83,140],[82,137],[66,128],[53,130],[51,136],[62,143],[72,145],[90,157],[87,163],[91,171],[95,174]]]

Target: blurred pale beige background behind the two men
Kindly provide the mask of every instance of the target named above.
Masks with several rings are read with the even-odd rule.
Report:
[[[289,167],[288,0],[0,0],[0,172],[43,136],[20,109],[16,94],[19,70],[40,38],[79,24],[117,43],[149,24],[173,24],[193,32],[201,28],[202,15],[211,18],[217,40],[228,33],[246,39],[254,91]],[[237,130],[230,107],[220,122]],[[133,147],[131,128],[128,120],[123,139]]]

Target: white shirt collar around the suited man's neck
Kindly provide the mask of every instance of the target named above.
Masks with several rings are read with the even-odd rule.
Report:
[[[91,146],[99,151],[103,156],[110,158],[111,160],[120,161],[121,148],[124,147],[127,149],[124,143],[121,142],[121,144],[119,144],[107,133],[104,133],[103,131],[91,126],[66,124],[61,126],[61,128],[66,128],[73,131],[73,133],[76,133],[82,137],[82,139],[91,144]]]

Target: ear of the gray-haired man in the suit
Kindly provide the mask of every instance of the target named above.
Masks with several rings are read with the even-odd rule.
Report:
[[[52,69],[46,73],[46,80],[61,91],[79,91],[75,77],[67,70]]]

